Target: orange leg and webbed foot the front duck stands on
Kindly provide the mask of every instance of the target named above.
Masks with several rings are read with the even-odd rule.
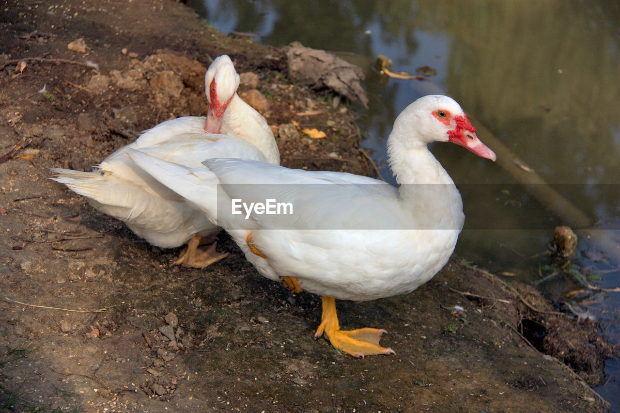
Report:
[[[317,339],[325,334],[329,342],[337,350],[349,353],[353,357],[364,357],[374,354],[396,354],[390,348],[379,346],[381,334],[386,332],[381,329],[363,328],[350,331],[340,330],[338,316],[336,315],[336,299],[334,297],[321,297],[323,312],[321,324],[314,334]]]

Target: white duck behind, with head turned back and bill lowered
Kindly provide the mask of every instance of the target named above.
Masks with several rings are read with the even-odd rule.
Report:
[[[53,168],[53,180],[83,195],[97,210],[124,221],[138,236],[158,247],[188,248],[175,264],[203,268],[228,255],[215,242],[200,251],[201,238],[220,229],[208,218],[126,156],[130,148],[188,167],[207,158],[244,158],[280,163],[280,153],[265,118],[236,93],[239,75],[226,55],[205,74],[209,109],[205,117],[181,117],[144,131],[104,159],[92,172]],[[221,132],[221,133],[220,133]]]

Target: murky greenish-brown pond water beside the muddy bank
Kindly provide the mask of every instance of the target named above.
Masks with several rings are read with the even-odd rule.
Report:
[[[368,110],[356,107],[364,146],[374,149],[388,179],[385,139],[396,115],[421,95],[451,95],[474,119],[480,140],[497,138],[595,222],[596,231],[577,231],[575,274],[604,288],[620,286],[618,2],[193,0],[193,7],[225,33],[257,33],[277,47],[298,40],[355,59],[370,98]],[[392,59],[392,70],[415,73],[428,65],[437,75],[381,82],[372,69],[378,55]],[[550,212],[500,162],[451,144],[432,150],[463,193],[466,229],[456,252],[523,282],[551,275],[545,252],[553,228],[577,229],[575,217]],[[566,300],[580,285],[569,276],[539,287]],[[618,343],[620,293],[576,302],[582,300]],[[606,371],[610,380],[596,390],[619,406],[620,367],[609,362]]]

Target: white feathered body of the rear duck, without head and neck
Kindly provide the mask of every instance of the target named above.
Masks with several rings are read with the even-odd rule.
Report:
[[[137,167],[126,156],[130,148],[187,167],[201,167],[201,161],[221,157],[279,162],[279,155],[265,156],[225,127],[223,133],[215,135],[205,133],[204,125],[204,117],[162,122],[110,154],[93,171],[56,168],[52,170],[57,175],[53,179],[86,197],[97,210],[124,221],[149,243],[159,247],[181,246],[194,234],[217,233],[218,226],[188,205],[183,197]]]

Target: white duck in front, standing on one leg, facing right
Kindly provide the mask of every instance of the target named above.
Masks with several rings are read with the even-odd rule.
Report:
[[[291,291],[321,295],[315,337],[325,334],[336,349],[363,357],[394,352],[379,346],[384,330],[341,331],[335,298],[364,301],[415,290],[445,265],[463,227],[461,195],[428,151],[432,141],[451,141],[495,161],[461,107],[441,95],[421,97],[396,118],[387,148],[399,189],[369,177],[240,159],[210,159],[203,162],[208,169],[191,169],[137,151],[129,156],[217,216],[262,275],[285,280]],[[266,198],[291,202],[293,215],[257,214],[259,208],[246,220],[246,211],[231,213],[232,203]]]

